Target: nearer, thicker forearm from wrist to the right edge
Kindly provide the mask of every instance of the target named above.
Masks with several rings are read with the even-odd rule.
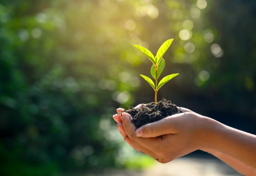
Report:
[[[234,160],[256,168],[256,136],[231,128],[215,120],[209,120],[210,130],[205,131],[205,148],[224,153]],[[226,157],[222,157],[226,158]],[[231,162],[231,159],[230,159]]]

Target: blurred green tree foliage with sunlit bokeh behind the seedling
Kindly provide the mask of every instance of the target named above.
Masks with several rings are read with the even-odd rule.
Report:
[[[169,38],[159,91],[255,133],[256,2],[0,1],[1,175],[124,167],[116,107],[154,100],[139,74]]]

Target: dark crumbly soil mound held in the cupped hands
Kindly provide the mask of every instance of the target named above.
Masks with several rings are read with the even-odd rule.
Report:
[[[182,113],[175,104],[166,99],[157,102],[157,104],[155,102],[148,103],[141,108],[130,107],[124,112],[132,116],[131,121],[137,128],[147,123],[156,122],[165,117]]]

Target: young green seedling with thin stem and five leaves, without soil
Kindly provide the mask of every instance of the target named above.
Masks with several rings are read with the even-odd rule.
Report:
[[[166,82],[168,82],[170,79],[173,79],[175,76],[179,75],[178,73],[171,74],[168,76],[165,76],[163,79],[161,79],[158,83],[158,78],[163,72],[164,66],[165,66],[165,60],[162,58],[164,53],[167,51],[167,49],[170,47],[170,44],[173,42],[172,39],[166,40],[162,46],[158,49],[156,57],[147,50],[144,47],[134,45],[137,49],[139,49],[143,54],[145,54],[153,63],[151,67],[151,75],[155,79],[155,83],[151,78],[148,78],[145,75],[140,75],[142,78],[144,78],[154,89],[155,91],[155,104],[157,104],[157,92]]]

